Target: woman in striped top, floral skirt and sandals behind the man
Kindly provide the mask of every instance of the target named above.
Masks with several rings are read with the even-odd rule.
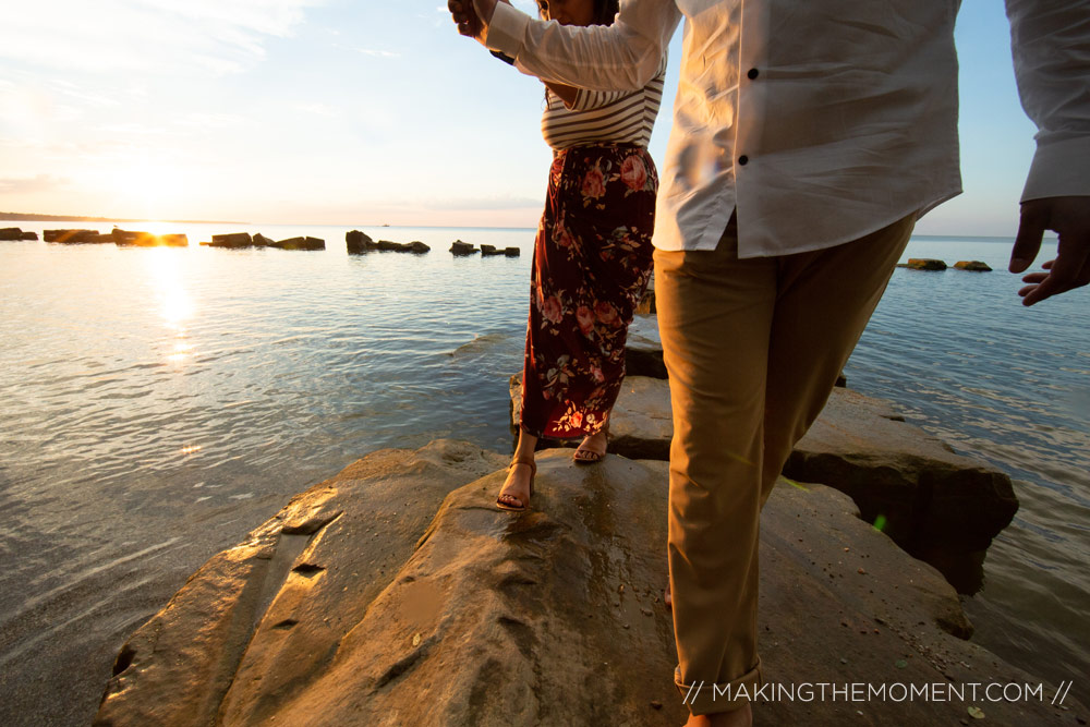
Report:
[[[617,0],[540,0],[544,20],[608,25]],[[546,85],[553,148],[534,242],[519,444],[496,499],[526,509],[541,437],[583,437],[573,459],[601,461],[625,377],[625,339],[652,269],[658,174],[647,154],[666,75],[638,92]]]

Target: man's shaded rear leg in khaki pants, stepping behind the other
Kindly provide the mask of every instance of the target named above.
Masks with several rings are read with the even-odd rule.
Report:
[[[913,214],[855,242],[778,258],[762,506],[795,445],[825,407],[915,225]]]

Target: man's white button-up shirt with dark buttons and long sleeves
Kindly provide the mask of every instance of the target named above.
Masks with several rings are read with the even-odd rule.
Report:
[[[959,0],[621,0],[611,26],[502,2],[486,45],[522,72],[642,88],[685,16],[655,246],[740,257],[821,250],[961,191]],[[1024,199],[1090,194],[1090,0],[1007,0],[1039,150]],[[1066,171],[1065,171],[1066,170]]]

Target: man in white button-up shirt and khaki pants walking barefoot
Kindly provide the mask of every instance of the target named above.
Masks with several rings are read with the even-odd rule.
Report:
[[[472,1],[448,0],[462,34],[603,90],[642,87],[686,19],[655,226],[675,682],[688,725],[748,725],[761,508],[916,220],[960,192],[959,0],[622,0],[586,28]],[[1059,232],[1057,258],[1024,278],[1033,305],[1090,282],[1090,0],[1006,4],[1040,129],[1010,270]]]

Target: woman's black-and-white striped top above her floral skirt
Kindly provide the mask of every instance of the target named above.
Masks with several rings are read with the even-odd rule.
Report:
[[[637,144],[646,147],[663,101],[666,54],[658,72],[641,90],[580,88],[571,108],[546,89],[548,107],[542,116],[542,136],[553,149],[586,144]]]

